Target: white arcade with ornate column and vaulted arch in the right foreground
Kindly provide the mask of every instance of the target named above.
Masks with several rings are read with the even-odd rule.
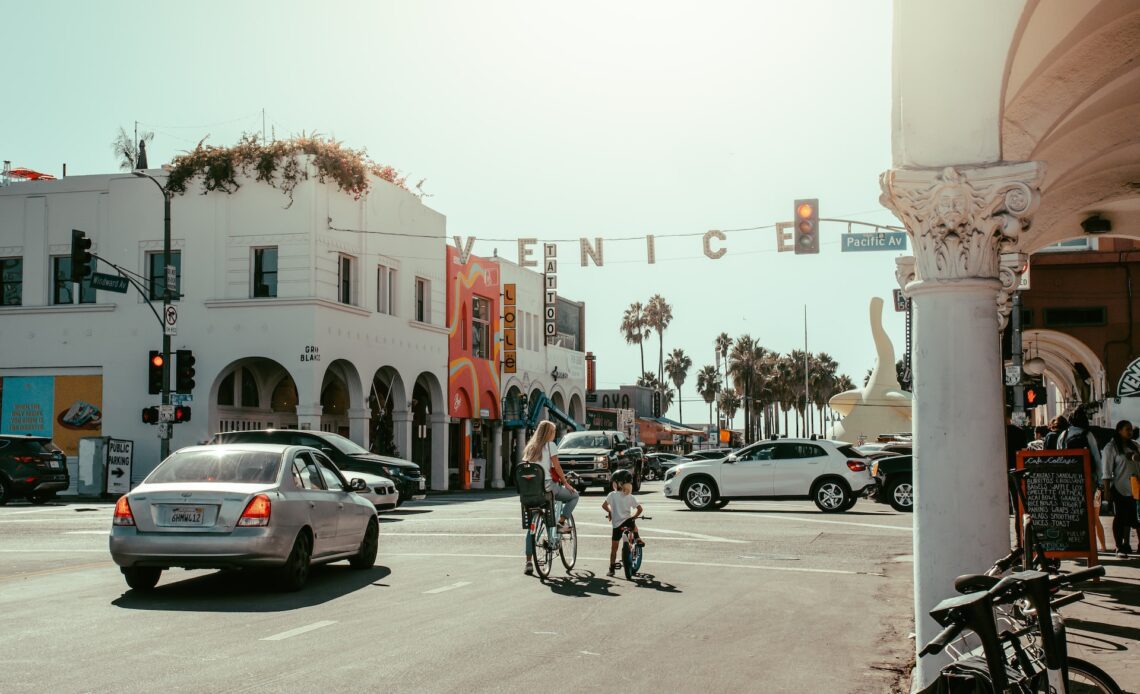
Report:
[[[1026,258],[1092,217],[1140,237],[1140,6],[896,0],[894,17],[880,182],[914,248],[898,279],[914,307],[921,647],[954,577],[1009,552],[999,330]],[[920,659],[914,686],[940,664]]]

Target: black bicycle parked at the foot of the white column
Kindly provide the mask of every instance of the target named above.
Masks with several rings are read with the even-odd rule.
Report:
[[[1004,560],[999,560],[995,565]],[[1056,610],[1083,599],[1084,594],[1077,591],[1056,599],[1051,597],[1064,586],[1104,574],[1102,566],[1062,575],[1021,571],[997,580],[988,589],[943,601],[930,611],[930,615],[946,628],[923,646],[919,656],[939,653],[944,648],[955,653],[952,644],[967,629],[980,640],[980,646],[958,652],[954,661],[942,669],[938,680],[923,692],[954,692],[958,686],[986,691],[978,689],[978,685],[984,684],[991,691],[1001,693],[1119,693],[1119,686],[1104,670],[1067,655],[1064,622],[1054,619]],[[1024,620],[1026,626],[999,631],[1002,618],[995,617],[995,609],[997,614],[1002,614],[1002,606],[1021,601],[1028,607],[1015,610],[1011,613],[1015,617],[1010,620],[1008,613],[1005,619],[1010,620],[1010,624]],[[1028,646],[1024,643],[1026,640]]]

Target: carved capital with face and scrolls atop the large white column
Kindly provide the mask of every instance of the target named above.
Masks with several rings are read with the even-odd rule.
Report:
[[[914,279],[1003,279],[1000,254],[1019,248],[1044,172],[1043,162],[885,171],[879,202],[906,226]]]

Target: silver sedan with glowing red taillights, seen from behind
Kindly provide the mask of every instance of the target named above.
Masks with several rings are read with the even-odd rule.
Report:
[[[380,524],[356,493],[365,489],[314,448],[182,448],[119,498],[111,557],[136,590],[174,566],[269,569],[278,587],[298,590],[314,563],[375,563]]]

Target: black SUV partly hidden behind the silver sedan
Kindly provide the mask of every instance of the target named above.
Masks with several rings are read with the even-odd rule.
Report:
[[[311,446],[333,459],[342,472],[365,472],[388,477],[400,493],[397,506],[408,499],[422,499],[424,477],[420,466],[410,460],[370,454],[349,439],[331,432],[296,428],[264,428],[214,434],[211,443],[284,443]]]

